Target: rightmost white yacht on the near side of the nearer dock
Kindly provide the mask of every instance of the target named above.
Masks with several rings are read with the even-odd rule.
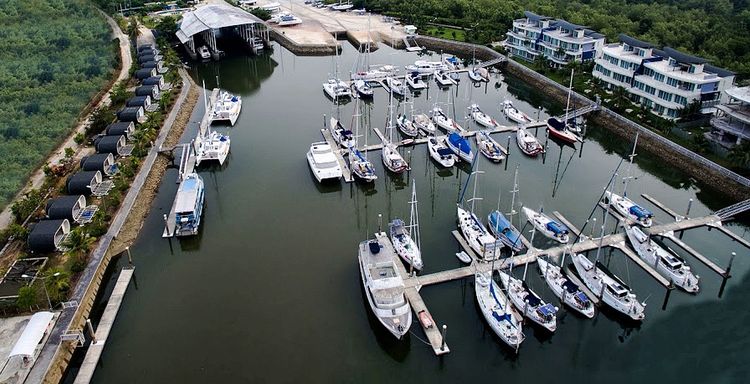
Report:
[[[698,293],[699,277],[693,274],[690,267],[685,264],[685,260],[664,249],[638,227],[626,225],[625,233],[638,257],[654,267],[662,276],[671,280],[674,285],[687,292]]]

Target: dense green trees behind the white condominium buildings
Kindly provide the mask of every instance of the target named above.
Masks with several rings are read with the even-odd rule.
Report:
[[[625,33],[705,57],[750,77],[750,5],[746,0],[355,0],[355,7],[403,18],[470,28],[467,40],[503,38],[530,10],[587,25],[615,41]]]

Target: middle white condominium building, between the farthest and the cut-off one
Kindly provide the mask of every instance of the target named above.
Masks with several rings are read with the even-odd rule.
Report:
[[[620,35],[620,42],[602,47],[593,75],[612,89],[623,87],[630,99],[667,119],[698,100],[701,111],[712,112],[722,93],[732,86],[734,73],[714,67],[700,57]]]

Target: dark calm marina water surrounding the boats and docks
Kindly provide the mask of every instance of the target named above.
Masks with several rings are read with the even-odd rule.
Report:
[[[381,45],[370,62],[403,66],[418,58]],[[357,59],[356,49],[344,44],[338,59],[342,78],[348,78]],[[554,335],[526,326],[527,340],[515,356],[485,324],[473,280],[467,278],[421,291],[435,320],[448,325],[450,354],[436,358],[420,341],[424,336],[416,321],[414,334],[394,340],[371,315],[363,296],[357,244],[377,229],[378,214],[384,224],[396,216],[408,220],[408,186],[415,181],[424,273],[460,266],[450,232],[456,228],[455,204],[469,169],[437,170],[421,145],[403,148],[412,170],[402,177],[386,175],[380,154],[374,152],[370,158],[379,176],[374,185],[318,185],[305,152],[311,142],[321,140],[324,114],[338,113],[349,126],[355,105],[337,111],[324,96],[321,84],[334,67],[332,57],[296,57],[277,45],[268,56],[229,57],[193,68],[198,83],[205,81],[212,88],[218,76],[222,88],[242,96],[235,127],[218,128],[231,135],[231,155],[224,167],[200,172],[206,182],[206,209],[194,238],[161,238],[162,215],[177,188],[176,169],[165,175],[132,248],[138,287],[131,287],[125,297],[96,382],[746,380],[749,371],[742,356],[750,345],[745,305],[750,300],[750,252],[705,228],[687,231],[683,240],[722,267],[731,252],[738,254],[734,277],[721,298],[721,279],[682,253],[700,275],[702,291],[697,296],[673,292],[663,311],[664,289],[624,255],[606,251],[603,261],[648,303],[646,320],[639,326],[621,322],[609,311],[586,320],[563,309]],[[455,107],[459,122],[471,129],[476,127],[464,118],[470,100],[501,124],[510,124],[500,111],[506,98],[532,117],[562,111],[563,106],[517,79],[495,74],[487,87],[473,88],[463,76],[457,91],[439,91],[432,82],[430,90],[414,100],[415,110],[426,111],[438,102],[452,114]],[[387,93],[378,89],[374,102],[364,108],[371,127],[385,125],[387,100]],[[451,100],[454,107],[445,105]],[[201,114],[198,108],[184,141],[194,135]],[[502,210],[509,209],[518,165],[517,201],[559,211],[580,226],[632,146],[601,127],[589,125],[588,134],[589,140],[576,149],[550,141],[544,161],[520,155],[511,143],[507,170],[480,156],[479,168],[485,173],[477,193],[484,198],[479,216],[496,208],[498,192]],[[542,129],[539,135],[543,137]],[[507,136],[495,137],[505,145]],[[373,133],[367,140],[378,141]],[[660,222],[669,218],[641,193],[681,212],[692,198],[691,216],[729,204],[647,154],[637,156],[632,175],[636,179],[630,181],[628,195],[650,208]],[[601,223],[601,212],[597,217]],[[747,226],[728,225],[750,238]],[[539,236],[535,244],[553,245]],[[535,265],[529,268],[528,282],[552,301]]]

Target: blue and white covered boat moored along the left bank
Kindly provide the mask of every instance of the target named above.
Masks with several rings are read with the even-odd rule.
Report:
[[[175,236],[193,236],[198,233],[203,199],[203,179],[197,173],[185,176],[175,198]]]

